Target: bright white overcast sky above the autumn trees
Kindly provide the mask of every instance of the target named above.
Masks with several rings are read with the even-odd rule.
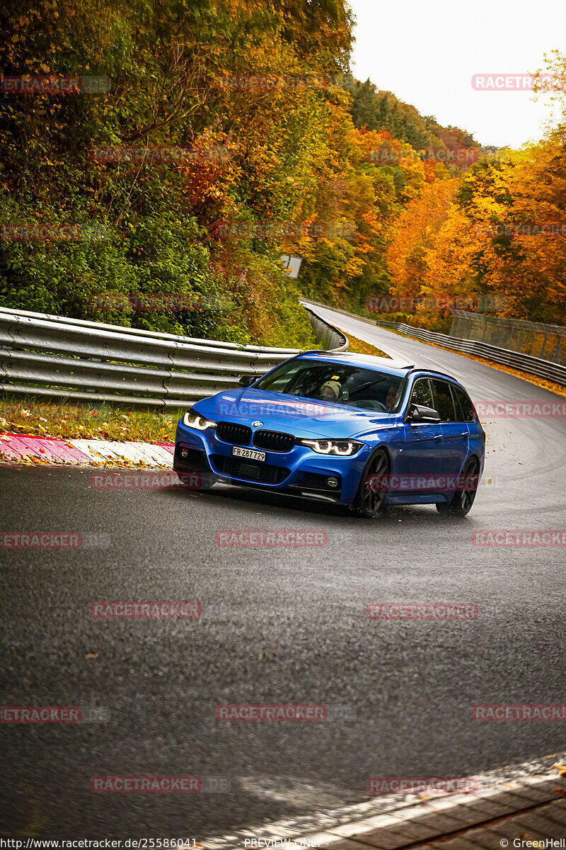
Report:
[[[474,133],[480,144],[540,139],[552,115],[529,91],[474,91],[474,74],[528,74],[543,54],[566,52],[564,0],[427,3],[350,0],[356,15],[352,73]]]

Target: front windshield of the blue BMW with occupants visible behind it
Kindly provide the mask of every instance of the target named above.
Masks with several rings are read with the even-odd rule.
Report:
[[[375,369],[299,358],[277,366],[254,388],[393,413],[401,401],[402,383],[401,377]]]

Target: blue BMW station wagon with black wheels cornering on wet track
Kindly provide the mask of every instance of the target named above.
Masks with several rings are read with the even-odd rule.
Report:
[[[177,425],[180,477],[332,501],[373,517],[388,505],[474,503],[485,433],[468,393],[440,371],[365,354],[305,351],[198,401]]]

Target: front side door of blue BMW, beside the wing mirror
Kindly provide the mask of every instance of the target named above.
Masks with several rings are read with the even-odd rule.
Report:
[[[428,377],[418,377],[412,385],[411,405],[434,407],[434,397]],[[403,449],[398,456],[396,471],[406,476],[441,474],[439,469],[439,449],[442,440],[440,424],[436,422],[406,422]],[[411,490],[417,490],[417,486]]]

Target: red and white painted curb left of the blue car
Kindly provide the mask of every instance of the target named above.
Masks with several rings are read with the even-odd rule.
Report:
[[[103,439],[52,439],[0,434],[0,461],[63,463],[89,467],[171,469],[174,445],[120,443]]]

